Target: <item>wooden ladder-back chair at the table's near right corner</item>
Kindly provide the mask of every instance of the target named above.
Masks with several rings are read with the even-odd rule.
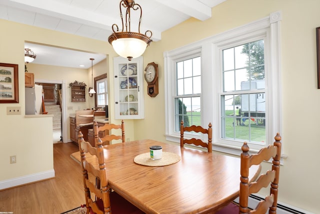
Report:
[[[222,208],[217,214],[235,214],[235,213],[256,213],[264,214],[269,210],[269,214],[276,214],[278,181],[280,170],[280,155],[281,155],[281,136],[276,133],[273,145],[264,147],[257,154],[249,155],[249,147],[246,142],[243,143],[241,149],[241,166],[240,166],[240,191],[239,205],[229,203]],[[262,161],[268,161],[272,158],[271,170],[267,170],[265,174],[261,174],[256,181],[248,183],[249,167],[258,165]],[[270,184],[270,194],[264,200],[261,200],[255,208],[248,208],[248,197],[251,193],[257,193],[262,187],[267,187]]]

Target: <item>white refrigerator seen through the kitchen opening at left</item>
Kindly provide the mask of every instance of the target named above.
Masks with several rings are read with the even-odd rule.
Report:
[[[42,86],[25,89],[25,114],[42,114]]]

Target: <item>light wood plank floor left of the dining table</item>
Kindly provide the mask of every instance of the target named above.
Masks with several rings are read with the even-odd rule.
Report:
[[[53,144],[55,178],[0,191],[0,212],[57,214],[85,204],[81,166],[73,143]]]

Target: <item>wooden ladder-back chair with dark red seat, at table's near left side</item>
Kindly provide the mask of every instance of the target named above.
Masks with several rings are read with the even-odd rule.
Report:
[[[81,156],[86,213],[111,213],[111,209],[113,214],[143,213],[109,188],[102,141],[98,138],[97,147],[92,147],[89,142],[84,141],[83,134],[79,131],[78,145]],[[94,193],[96,200],[91,198],[91,193]]]

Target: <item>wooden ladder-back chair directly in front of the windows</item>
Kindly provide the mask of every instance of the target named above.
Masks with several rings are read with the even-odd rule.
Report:
[[[204,129],[201,126],[183,126],[183,120],[181,120],[180,123],[180,146],[183,147],[183,145],[186,144],[193,144],[196,146],[202,146],[203,148],[207,148],[208,152],[212,152],[212,125],[211,123],[209,123],[208,125],[208,129]],[[200,139],[195,139],[195,138],[191,138],[191,139],[184,139],[184,132],[188,131],[194,131],[194,132],[201,132],[203,134],[207,134],[208,135],[208,142],[205,143]]]

